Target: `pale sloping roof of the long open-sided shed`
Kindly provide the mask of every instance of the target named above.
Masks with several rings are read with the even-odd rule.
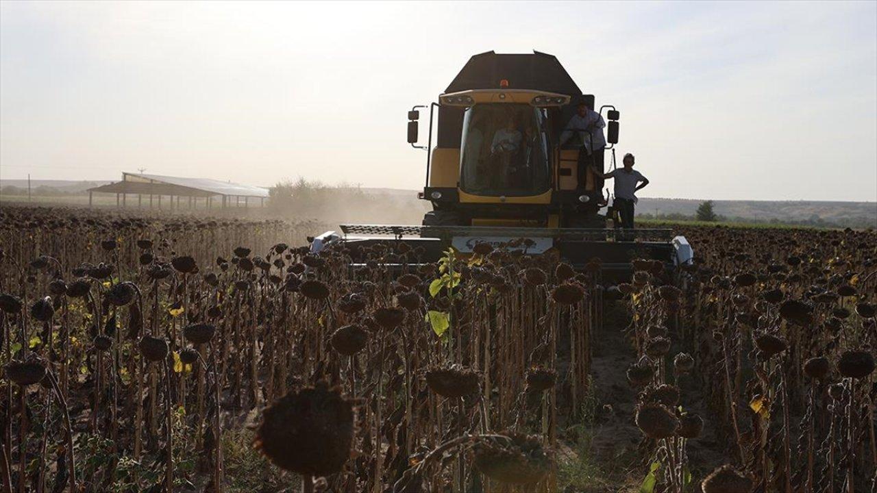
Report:
[[[154,189],[155,191],[151,191]],[[255,196],[267,197],[268,189],[221,182],[210,178],[185,178],[182,176],[146,175],[142,173],[122,173],[122,181],[89,189],[92,192],[110,193],[153,193],[156,195],[191,196]]]

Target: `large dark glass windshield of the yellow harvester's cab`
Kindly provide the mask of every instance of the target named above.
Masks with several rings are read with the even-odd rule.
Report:
[[[463,117],[460,189],[475,195],[545,192],[545,114],[529,104],[475,104]]]

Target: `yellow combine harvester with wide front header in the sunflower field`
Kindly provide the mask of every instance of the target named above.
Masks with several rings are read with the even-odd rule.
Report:
[[[358,247],[392,237],[423,247],[422,261],[437,260],[448,246],[470,253],[479,242],[525,248],[528,254],[554,250],[577,267],[597,257],[608,270],[627,270],[633,257],[668,266],[691,261],[688,242],[669,230],[606,227],[601,210],[609,197],[591,166],[605,169],[588,154],[581,156],[588,166],[580,165],[587,132],[573,132],[571,145],[560,144],[582,102],[597,110],[595,97],[582,94],[553,55],[473,56],[438,102],[408,113],[408,141],[427,152],[426,183],[418,197],[430,201],[432,211],[423,225],[341,225],[342,233],[313,239],[312,250],[343,241],[355,262],[363,250]],[[429,132],[426,145],[418,146],[425,109]],[[611,105],[599,112],[609,120],[607,152],[614,164],[619,112]],[[503,148],[496,138],[503,132],[515,136],[513,148]]]

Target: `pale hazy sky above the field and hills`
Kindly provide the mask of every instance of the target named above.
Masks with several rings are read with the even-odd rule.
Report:
[[[417,189],[410,106],[533,49],[621,111],[644,196],[877,200],[875,2],[4,1],[0,177]]]

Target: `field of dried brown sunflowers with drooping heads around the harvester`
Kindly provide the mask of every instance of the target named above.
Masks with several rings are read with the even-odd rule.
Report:
[[[613,286],[486,244],[349,268],[309,224],[0,220],[8,491],[874,488],[874,232],[689,227],[696,266]],[[627,418],[590,378],[613,335]],[[621,473],[571,450],[598,412],[638,429]]]

